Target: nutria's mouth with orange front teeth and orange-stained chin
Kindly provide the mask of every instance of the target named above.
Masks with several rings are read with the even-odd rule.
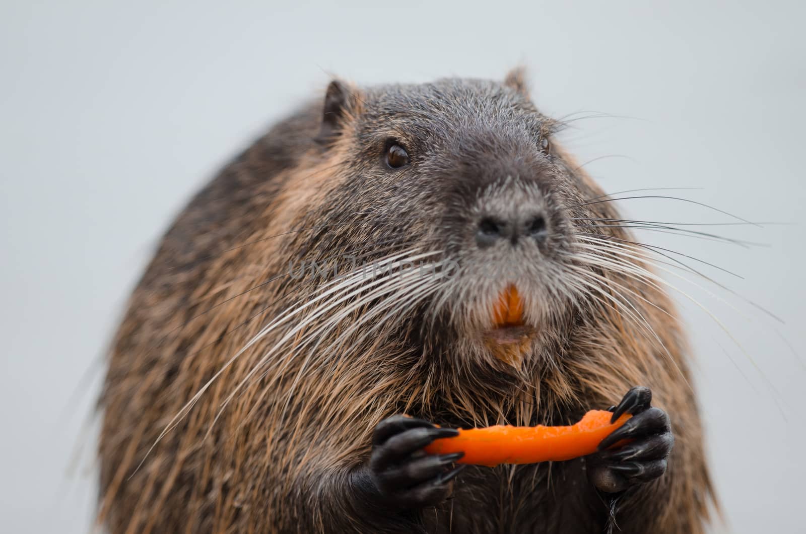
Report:
[[[484,344],[505,364],[519,367],[523,355],[531,348],[534,327],[524,323],[523,300],[513,284],[501,291],[492,317],[494,324],[484,332]]]

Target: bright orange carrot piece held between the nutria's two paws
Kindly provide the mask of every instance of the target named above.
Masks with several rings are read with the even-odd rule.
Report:
[[[459,430],[459,436],[434,440],[426,453],[464,453],[459,464],[534,464],[540,461],[571,460],[596,452],[601,440],[621,427],[629,414],[610,423],[613,414],[591,410],[578,423],[567,427],[512,427]]]

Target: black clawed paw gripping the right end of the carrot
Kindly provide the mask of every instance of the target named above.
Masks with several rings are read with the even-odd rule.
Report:
[[[598,453],[588,457],[588,477],[599,490],[622,491],[666,472],[675,436],[667,413],[650,407],[651,401],[649,388],[634,387],[617,407],[610,408],[613,421],[624,413],[633,416],[602,440]],[[629,441],[614,446],[621,440]]]

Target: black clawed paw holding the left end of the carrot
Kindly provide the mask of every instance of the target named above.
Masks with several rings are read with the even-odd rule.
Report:
[[[422,448],[438,438],[458,436],[453,428],[437,428],[423,419],[393,415],[372,435],[369,472],[384,502],[393,509],[442,503],[451,494],[451,480],[463,465],[450,469],[464,453],[434,455]]]

